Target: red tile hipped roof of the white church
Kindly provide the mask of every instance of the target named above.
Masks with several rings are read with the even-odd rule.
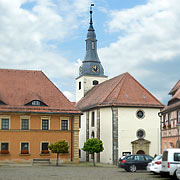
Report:
[[[106,106],[164,107],[129,73],[94,86],[76,106],[80,110]]]

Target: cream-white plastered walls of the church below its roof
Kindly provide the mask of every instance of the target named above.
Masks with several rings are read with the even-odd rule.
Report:
[[[149,155],[154,156],[160,153],[160,118],[159,108],[139,108],[139,107],[118,107],[118,157],[123,152],[133,153],[132,143],[137,138],[137,131],[143,129],[149,144]],[[144,112],[144,118],[139,119],[136,114],[138,110]],[[88,113],[87,113],[88,112]],[[95,113],[95,126],[91,127],[91,115]],[[97,137],[97,109],[85,111],[81,117],[80,148],[86,141],[86,115],[89,114],[89,138],[94,131]],[[100,139],[104,144],[104,151],[100,153],[100,162],[113,164],[113,128],[112,128],[112,108],[100,108]],[[141,150],[141,149],[139,149]],[[86,160],[86,154],[82,152],[80,161]],[[91,158],[89,158],[91,161]]]

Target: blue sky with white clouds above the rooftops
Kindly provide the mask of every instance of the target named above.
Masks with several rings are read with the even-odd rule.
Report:
[[[75,101],[92,2],[105,74],[129,72],[167,104],[180,79],[179,0],[0,0],[0,68],[42,70]]]

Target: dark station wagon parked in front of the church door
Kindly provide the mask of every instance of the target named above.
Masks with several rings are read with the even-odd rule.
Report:
[[[119,161],[119,167],[126,171],[136,172],[136,170],[146,169],[149,162],[153,160],[153,157],[142,154],[128,155]]]

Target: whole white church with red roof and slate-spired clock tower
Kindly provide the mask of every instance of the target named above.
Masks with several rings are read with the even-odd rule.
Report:
[[[104,151],[97,162],[117,164],[126,154],[160,153],[160,118],[163,104],[128,72],[107,79],[97,54],[92,9],[86,38],[86,55],[76,78],[76,107],[80,121],[80,161],[91,161],[84,142],[98,138]]]

